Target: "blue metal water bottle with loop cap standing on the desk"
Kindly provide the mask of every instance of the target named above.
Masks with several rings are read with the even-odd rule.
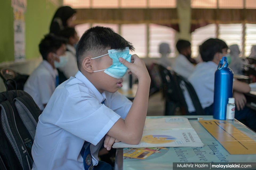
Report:
[[[227,57],[219,61],[214,77],[213,118],[226,120],[226,109],[233,91],[233,71],[228,67]]]

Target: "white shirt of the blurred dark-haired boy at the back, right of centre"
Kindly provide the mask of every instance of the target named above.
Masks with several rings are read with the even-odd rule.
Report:
[[[182,77],[188,78],[195,70],[195,66],[183,54],[179,54],[175,59],[173,70]]]

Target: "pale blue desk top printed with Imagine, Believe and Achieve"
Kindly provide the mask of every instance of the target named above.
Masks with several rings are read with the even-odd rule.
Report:
[[[160,118],[163,116],[155,116]],[[187,118],[195,118],[196,116],[184,116]],[[198,116],[204,120],[212,120],[213,116]],[[204,147],[170,147],[165,150],[160,150],[161,153],[154,153],[146,159],[123,159],[123,149],[117,149],[115,170],[135,170],[135,169],[173,169],[173,162],[221,162],[227,160],[232,162],[255,162],[256,155],[230,155],[222,145],[203,128],[197,120],[190,120],[191,126],[195,129]],[[256,141],[256,134],[241,124],[239,121],[234,121],[233,125],[242,133]],[[211,148],[215,148],[215,151]]]

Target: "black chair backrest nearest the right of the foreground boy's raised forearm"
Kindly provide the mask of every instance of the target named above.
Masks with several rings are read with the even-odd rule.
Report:
[[[182,111],[185,110],[185,114],[188,113],[187,105],[185,98],[182,94],[182,90],[178,84],[176,74],[173,70],[167,69],[162,65],[158,66],[159,73],[162,79],[162,86],[163,86],[163,96],[166,97],[166,100],[170,101],[171,103],[166,103],[166,108],[170,104],[175,104],[175,107],[179,107]],[[174,112],[175,107],[172,110]],[[168,111],[166,111],[166,115]],[[173,114],[173,113],[171,113]],[[170,115],[170,114],[168,114]]]

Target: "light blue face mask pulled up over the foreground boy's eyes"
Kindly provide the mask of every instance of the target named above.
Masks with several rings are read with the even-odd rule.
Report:
[[[123,65],[121,62],[119,62],[118,58],[122,57],[128,62],[131,62],[131,54],[129,54],[129,47],[126,47],[123,50],[112,49],[112,50],[108,50],[108,52],[109,53],[107,54],[109,54],[109,57],[112,58],[113,64],[107,69],[104,69],[104,73],[116,79],[121,79],[125,75],[128,68],[125,65]],[[106,56],[107,54],[104,54],[102,56]],[[99,57],[102,57],[102,56],[99,56]],[[95,57],[95,58],[99,58],[99,57]],[[95,59],[95,58],[91,58],[91,59]],[[98,71],[103,71],[103,70],[98,70]],[[93,72],[97,72],[97,71],[93,71]]]

